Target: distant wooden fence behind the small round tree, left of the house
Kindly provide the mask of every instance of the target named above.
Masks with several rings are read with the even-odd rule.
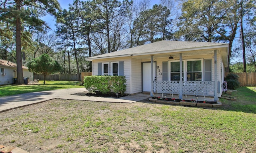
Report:
[[[92,72],[82,72],[81,73],[81,81],[84,83],[84,77],[92,75]],[[37,78],[39,80],[44,80],[44,75],[34,75],[34,79]],[[47,75],[46,80],[57,80],[57,81],[78,81],[78,75]]]

